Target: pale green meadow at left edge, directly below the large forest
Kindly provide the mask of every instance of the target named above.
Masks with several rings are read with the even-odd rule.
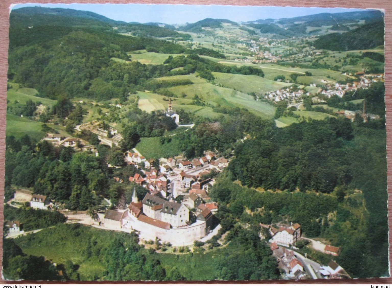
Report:
[[[28,87],[21,88],[19,84],[11,82],[9,82],[9,85],[11,85],[12,88],[7,91],[7,100],[9,100],[8,105],[13,105],[15,100],[18,101],[19,104],[25,104],[27,100],[32,100],[33,102],[41,102],[49,107],[52,107],[56,103],[56,100],[35,96],[38,95],[36,89]]]

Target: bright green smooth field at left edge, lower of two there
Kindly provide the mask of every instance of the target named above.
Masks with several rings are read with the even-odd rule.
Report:
[[[34,140],[38,141],[45,136],[45,133],[41,131],[41,125],[41,122],[7,113],[5,135],[13,135],[16,138],[29,135]]]

